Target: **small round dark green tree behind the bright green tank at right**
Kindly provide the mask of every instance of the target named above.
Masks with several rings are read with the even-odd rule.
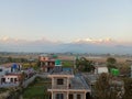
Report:
[[[113,58],[113,57],[107,58],[107,66],[108,66],[109,72],[111,68],[117,68],[116,65],[117,65],[116,58]]]

